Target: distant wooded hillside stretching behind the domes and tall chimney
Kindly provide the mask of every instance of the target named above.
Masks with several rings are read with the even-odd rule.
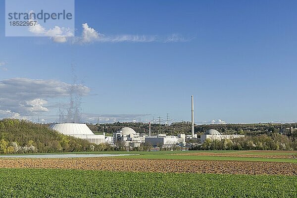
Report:
[[[120,130],[122,127],[131,127],[137,133],[148,133],[148,123],[142,122],[114,122],[105,124],[88,124],[93,132],[113,133]],[[216,129],[221,134],[241,134],[248,136],[271,135],[278,133],[284,128],[289,128],[296,124],[286,123],[257,123],[257,124],[203,124],[195,125],[195,133],[203,134],[208,129]],[[167,135],[191,134],[191,122],[174,122],[170,125],[153,123],[151,124],[151,134],[156,135],[165,133]],[[293,135],[294,137],[294,135]]]

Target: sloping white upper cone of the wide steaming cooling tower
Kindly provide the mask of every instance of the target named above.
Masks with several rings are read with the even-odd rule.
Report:
[[[64,135],[94,135],[91,129],[86,124],[79,123],[62,123],[52,124],[50,129],[56,130]]]

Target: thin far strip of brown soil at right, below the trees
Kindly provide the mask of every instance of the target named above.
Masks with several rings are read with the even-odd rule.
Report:
[[[252,157],[252,158],[277,158],[277,159],[297,159],[296,155],[255,155],[255,154],[237,154],[237,153],[215,153],[215,152],[189,152],[173,155],[191,155],[191,156],[220,156],[220,157]]]

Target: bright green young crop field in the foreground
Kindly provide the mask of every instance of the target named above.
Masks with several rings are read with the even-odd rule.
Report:
[[[296,198],[297,177],[0,169],[1,198]]]

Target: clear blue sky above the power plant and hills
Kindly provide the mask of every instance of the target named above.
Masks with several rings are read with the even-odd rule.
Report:
[[[293,0],[76,0],[81,42],[64,43],[5,37],[2,17],[0,90],[11,95],[0,99],[0,117],[56,121],[57,102],[68,102],[67,93],[30,98],[33,81],[24,79],[71,84],[74,64],[88,88],[82,121],[165,120],[166,113],[171,121],[190,121],[194,95],[197,123],[295,122],[296,7]],[[83,42],[85,23],[105,40]],[[21,92],[20,80],[28,83]],[[14,92],[17,98],[27,92],[22,101],[32,108],[10,104],[20,103]]]

